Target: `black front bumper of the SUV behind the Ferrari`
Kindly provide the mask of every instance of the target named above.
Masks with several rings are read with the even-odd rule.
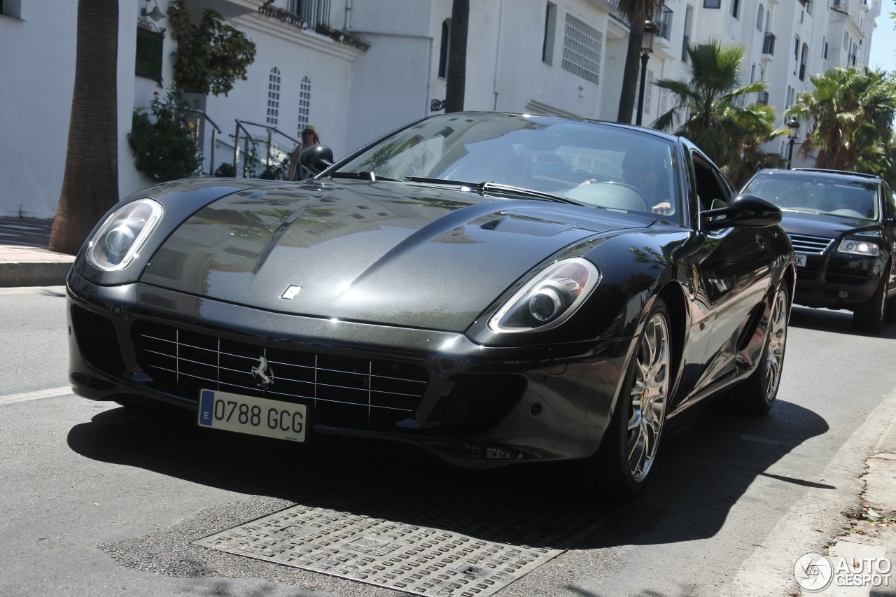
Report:
[[[797,267],[794,302],[806,307],[853,308],[874,294],[885,264],[880,257],[830,253],[806,255]]]

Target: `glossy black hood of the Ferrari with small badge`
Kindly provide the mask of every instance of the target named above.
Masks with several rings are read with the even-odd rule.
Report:
[[[650,223],[406,183],[279,186],[194,213],[141,281],[278,312],[461,332],[549,255]]]

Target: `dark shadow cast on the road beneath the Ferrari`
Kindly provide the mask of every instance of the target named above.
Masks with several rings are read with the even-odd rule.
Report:
[[[779,401],[767,417],[722,408],[685,413],[668,427],[645,493],[624,503],[582,495],[568,465],[459,469],[413,452],[297,446],[128,408],[75,425],[68,444],[90,459],[247,496],[335,504],[483,541],[592,549],[711,537],[759,476],[799,490],[833,489],[808,472],[806,479],[773,472],[794,447],[827,430],[819,415],[791,402]]]

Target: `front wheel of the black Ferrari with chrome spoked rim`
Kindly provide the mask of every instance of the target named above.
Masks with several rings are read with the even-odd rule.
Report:
[[[590,459],[600,493],[635,497],[644,488],[659,454],[671,387],[668,307],[656,299],[616,400],[616,408]]]

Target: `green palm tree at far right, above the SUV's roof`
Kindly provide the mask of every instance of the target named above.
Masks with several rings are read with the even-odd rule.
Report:
[[[887,74],[835,68],[810,77],[814,91],[797,96],[788,114],[810,123],[800,153],[818,148],[815,166],[862,169],[883,174],[892,168],[892,120],[896,84]]]

